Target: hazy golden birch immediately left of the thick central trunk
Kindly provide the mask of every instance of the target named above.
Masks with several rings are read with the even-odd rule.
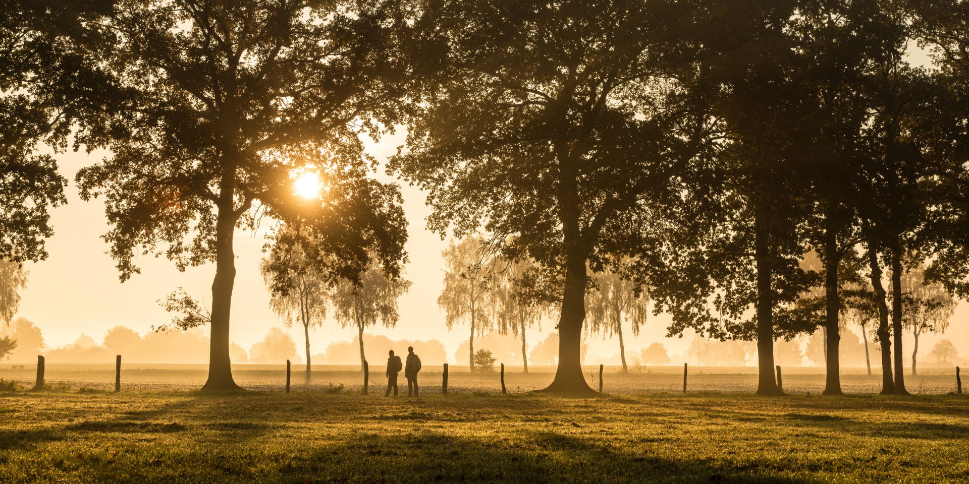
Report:
[[[521,362],[524,373],[528,373],[528,343],[525,332],[538,325],[542,330],[542,317],[548,313],[545,301],[530,293],[530,285],[536,276],[535,263],[524,258],[521,260],[500,260],[504,264],[495,277],[494,299],[498,332],[521,337]]]

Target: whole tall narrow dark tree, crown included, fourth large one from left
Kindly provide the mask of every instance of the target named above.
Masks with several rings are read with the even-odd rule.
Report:
[[[860,211],[871,156],[862,132],[872,123],[872,83],[879,68],[904,52],[904,18],[891,2],[818,0],[798,4],[792,33],[802,52],[801,88],[812,113],[805,118],[812,158],[798,169],[808,183],[813,216],[811,245],[825,267],[828,358],[825,394],[842,393],[838,363],[839,315],[843,307],[842,258],[861,238]],[[897,346],[897,345],[896,345]]]

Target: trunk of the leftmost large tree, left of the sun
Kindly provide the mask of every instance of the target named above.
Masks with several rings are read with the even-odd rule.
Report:
[[[226,188],[224,187],[225,191]],[[228,189],[230,196],[231,187]],[[229,197],[229,200],[232,200]],[[229,359],[229,315],[232,311],[235,283],[233,231],[235,218],[232,203],[219,207],[215,224],[215,280],[212,281],[211,339],[208,347],[208,379],[203,390],[237,390]]]

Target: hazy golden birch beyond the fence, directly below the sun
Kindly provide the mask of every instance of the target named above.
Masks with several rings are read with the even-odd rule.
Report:
[[[288,228],[283,228],[288,229]],[[304,239],[304,243],[312,243]],[[306,379],[310,379],[309,328],[327,318],[328,278],[312,264],[302,243],[273,245],[259,264],[269,287],[269,308],[286,327],[293,326],[294,313],[303,327],[306,346]]]

